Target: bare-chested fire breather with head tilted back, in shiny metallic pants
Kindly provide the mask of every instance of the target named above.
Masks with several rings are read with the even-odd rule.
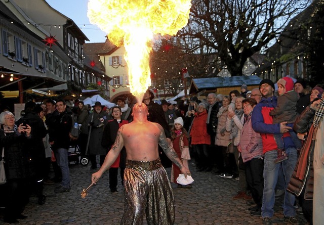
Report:
[[[123,146],[127,160],[124,173],[125,209],[120,224],[143,224],[146,211],[148,224],[169,225],[174,223],[175,203],[170,181],[161,165],[158,145],[180,168],[181,173],[189,174],[177,153],[168,144],[164,129],[147,120],[147,107],[137,103],[133,107],[133,122],[121,126],[116,141],[107,154],[98,172],[92,174],[96,183],[117,158]]]

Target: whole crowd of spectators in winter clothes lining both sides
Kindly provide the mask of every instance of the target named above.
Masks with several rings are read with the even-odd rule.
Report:
[[[206,98],[182,98],[177,104],[154,102],[154,93],[148,89],[143,103],[148,108],[148,120],[164,128],[169,144],[173,144],[185,165],[238,181],[239,192],[233,199],[247,200],[251,216],[261,216],[263,224],[272,224],[273,206],[280,197],[285,222],[299,224],[297,204],[310,224],[320,224],[324,221],[324,150],[319,137],[324,132],[324,90],[320,85],[310,88],[304,80],[293,83],[290,77],[277,84],[279,92],[271,80],[263,79],[251,91],[242,84],[241,92],[233,89],[228,95],[209,93]],[[91,169],[102,165],[118,128],[132,122],[132,103],[117,98],[115,104],[109,109],[100,102],[88,106],[75,101],[69,107],[58,99],[38,105],[27,102],[16,122],[11,112],[0,114],[0,146],[7,161],[7,184],[1,186],[8,193],[5,222],[25,218],[22,212],[30,195],[36,195],[38,203],[44,204],[44,185],[60,183],[55,188],[57,194],[70,191],[71,145],[77,145],[82,155],[89,155]],[[80,124],[77,140],[70,134],[73,114]],[[302,145],[298,145],[300,142]],[[172,166],[171,181],[177,184],[179,168],[160,149],[159,154],[164,167]],[[283,160],[278,160],[282,155]],[[118,168],[123,184],[125,160],[122,151],[109,171],[113,194],[118,193]],[[51,166],[54,177],[50,177]],[[281,196],[276,194],[278,189]]]

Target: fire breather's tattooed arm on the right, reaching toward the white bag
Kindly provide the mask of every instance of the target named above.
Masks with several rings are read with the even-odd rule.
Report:
[[[157,123],[156,123],[157,124]],[[178,157],[176,151],[171,147],[171,145],[169,144],[166,134],[164,133],[164,129],[163,127],[161,127],[159,124],[157,124],[158,128],[160,129],[160,136],[159,136],[159,140],[158,140],[158,144],[159,146],[163,149],[163,151],[166,153],[166,155],[168,156],[168,158],[179,167],[179,169],[181,170],[181,173],[185,175],[185,177],[187,177],[187,174],[190,173],[190,171],[188,170],[188,168],[186,168],[181,159]]]

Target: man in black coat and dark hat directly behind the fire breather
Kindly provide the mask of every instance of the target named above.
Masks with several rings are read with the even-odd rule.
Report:
[[[171,142],[171,133],[170,133],[169,125],[165,118],[162,106],[158,105],[157,103],[154,103],[153,99],[154,99],[154,93],[152,91],[150,91],[150,89],[147,89],[147,91],[145,92],[144,97],[143,97],[143,103],[145,103],[145,105],[148,109],[147,120],[150,122],[155,122],[155,123],[160,124],[163,127],[164,132],[166,133],[167,139],[169,139]],[[166,156],[164,151],[160,147],[158,148],[158,151],[159,151],[162,165],[166,168],[171,167],[172,162]]]

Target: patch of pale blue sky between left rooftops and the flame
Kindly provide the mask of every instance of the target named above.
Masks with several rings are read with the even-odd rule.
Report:
[[[86,41],[87,43],[105,42],[106,33],[89,22],[88,0],[46,0],[46,2],[55,10],[72,19],[90,40]]]

